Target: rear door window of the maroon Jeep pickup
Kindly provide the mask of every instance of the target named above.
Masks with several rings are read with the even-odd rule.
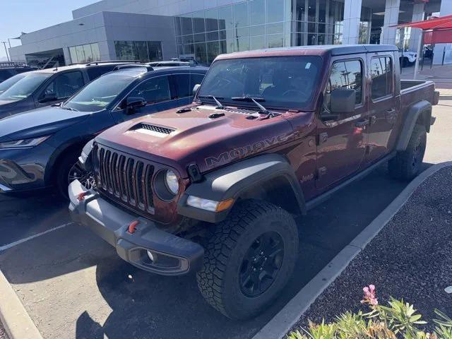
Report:
[[[390,57],[371,59],[371,97],[372,100],[393,93],[393,64]]]

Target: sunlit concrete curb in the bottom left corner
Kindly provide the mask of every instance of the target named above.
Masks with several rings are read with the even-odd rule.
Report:
[[[9,339],[42,339],[35,323],[0,270],[0,321]]]

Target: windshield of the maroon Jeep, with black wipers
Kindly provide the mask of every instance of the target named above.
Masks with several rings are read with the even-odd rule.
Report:
[[[321,58],[313,56],[215,61],[198,99],[213,102],[213,95],[222,103],[243,99],[240,105],[254,105],[246,100],[253,97],[266,108],[302,109],[311,101],[320,66]]]

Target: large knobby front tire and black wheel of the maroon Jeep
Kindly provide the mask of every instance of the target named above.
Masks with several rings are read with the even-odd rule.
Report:
[[[292,215],[265,201],[237,203],[215,227],[196,278],[201,294],[230,319],[261,313],[287,284],[298,256]]]

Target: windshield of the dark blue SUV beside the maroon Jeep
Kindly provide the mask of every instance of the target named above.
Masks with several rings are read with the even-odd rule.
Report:
[[[81,112],[95,112],[104,109],[136,78],[107,74],[85,86],[66,101],[63,107]]]

